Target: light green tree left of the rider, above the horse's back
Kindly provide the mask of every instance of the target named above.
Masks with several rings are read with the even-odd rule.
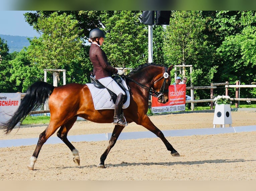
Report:
[[[83,41],[78,36],[81,30],[77,25],[78,21],[66,13],[58,15],[54,12],[47,18],[38,18],[37,27],[42,35],[30,40],[27,56],[41,75],[43,69],[79,68],[76,65],[82,62],[80,50]],[[69,70],[67,81],[73,82],[74,76],[71,76]]]

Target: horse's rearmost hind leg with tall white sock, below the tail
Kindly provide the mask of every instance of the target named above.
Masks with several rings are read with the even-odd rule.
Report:
[[[37,160],[38,154],[43,146],[43,144],[46,142],[46,140],[57,130],[59,126],[54,125],[54,122],[51,122],[48,124],[46,129],[39,135],[39,139],[37,142],[37,145],[35,147],[35,150],[33,152],[33,155],[30,157],[30,164],[27,166],[29,170],[34,170],[34,165]]]

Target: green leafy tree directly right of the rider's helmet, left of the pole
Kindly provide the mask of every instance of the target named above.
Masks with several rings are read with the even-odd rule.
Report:
[[[140,21],[141,13],[114,11],[101,16],[106,31],[102,48],[114,67],[135,68],[147,62],[147,28]]]

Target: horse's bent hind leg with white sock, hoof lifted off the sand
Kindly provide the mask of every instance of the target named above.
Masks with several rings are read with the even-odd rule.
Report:
[[[79,166],[80,165],[80,157],[78,150],[71,144],[68,140],[67,135],[71,127],[76,122],[77,117],[70,119],[67,123],[62,125],[57,132],[57,136],[70,148],[72,154],[74,155],[73,161]]]

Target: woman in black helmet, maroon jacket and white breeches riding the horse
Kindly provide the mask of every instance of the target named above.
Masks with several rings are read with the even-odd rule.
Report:
[[[108,63],[107,55],[101,49],[101,45],[104,42],[105,34],[100,29],[93,29],[89,34],[89,42],[92,43],[90,47],[90,60],[93,64],[93,75],[103,86],[111,90],[117,95],[115,104],[114,124],[125,125],[121,117],[122,106],[125,97],[125,92],[119,87],[119,85],[112,79],[112,74],[122,75],[123,71],[112,67]]]

